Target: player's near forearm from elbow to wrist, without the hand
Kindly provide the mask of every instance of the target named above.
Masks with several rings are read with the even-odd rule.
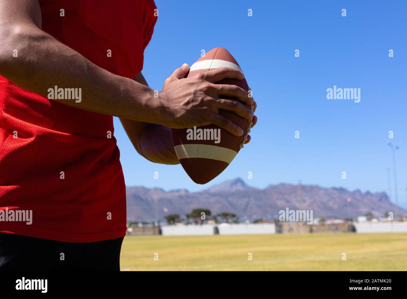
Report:
[[[13,57],[17,50],[18,57]],[[58,102],[131,120],[155,122],[153,90],[104,70],[31,24],[0,28],[0,74],[15,85],[48,96],[48,89],[81,88],[80,102]]]

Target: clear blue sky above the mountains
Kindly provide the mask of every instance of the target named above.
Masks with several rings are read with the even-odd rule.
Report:
[[[201,49],[224,47],[245,73],[259,120],[252,142],[221,175],[202,186],[180,165],[153,164],[140,157],[115,118],[127,186],[196,191],[241,177],[259,188],[301,180],[387,192],[386,168],[392,171],[392,156],[386,142],[392,130],[390,141],[400,147],[398,198],[407,207],[407,2],[155,3],[158,21],[144,53],[143,74],[149,85],[161,90],[166,77],[182,63],[192,65]],[[294,57],[296,49],[300,57]],[[389,49],[394,57],[388,56]],[[334,85],[360,88],[360,103],[328,100],[326,89]],[[295,131],[300,131],[299,139]],[[253,179],[247,179],[248,171]]]

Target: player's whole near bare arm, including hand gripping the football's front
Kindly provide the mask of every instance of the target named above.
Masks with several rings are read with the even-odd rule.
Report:
[[[13,57],[18,50],[18,57]],[[229,68],[210,70],[193,78],[178,76],[188,65],[175,70],[154,98],[153,90],[131,79],[98,67],[78,52],[41,30],[38,0],[0,0],[0,75],[15,85],[48,96],[48,89],[81,88],[80,103],[58,102],[118,116],[129,120],[161,124],[169,128],[189,128],[206,124],[241,136],[243,130],[219,115],[219,109],[234,111],[251,119],[252,111],[234,97],[253,104],[253,98],[235,85],[214,84],[225,78],[243,79],[242,72]]]

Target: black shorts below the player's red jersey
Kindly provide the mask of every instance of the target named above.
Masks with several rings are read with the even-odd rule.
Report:
[[[120,271],[122,242],[68,243],[0,233],[0,271]]]

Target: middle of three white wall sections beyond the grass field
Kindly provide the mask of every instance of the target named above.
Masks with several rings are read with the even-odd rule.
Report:
[[[276,234],[274,223],[222,223],[218,229],[219,235]]]

